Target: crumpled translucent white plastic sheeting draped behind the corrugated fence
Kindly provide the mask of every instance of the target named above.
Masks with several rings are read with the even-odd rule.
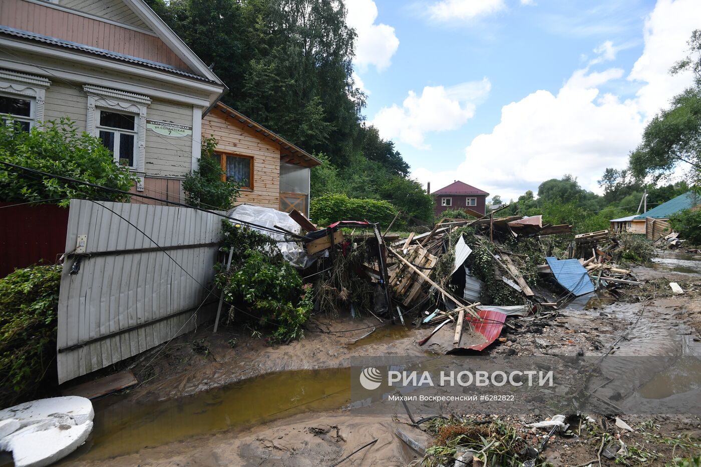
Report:
[[[297,224],[297,222],[295,222],[294,219],[287,214],[287,212],[278,211],[273,208],[261,208],[261,206],[254,206],[252,204],[238,205],[236,208],[233,208],[227,212],[226,215],[239,219],[242,222],[252,222],[253,224],[268,227],[273,231],[278,230],[275,229],[276,225],[282,227],[283,229],[289,230],[293,234],[299,234],[301,229],[299,224]],[[229,220],[229,222],[234,221]],[[320,252],[318,255],[310,256],[306,254],[304,247],[299,241],[290,241],[288,236],[283,233],[277,234],[275,232],[262,230],[254,226],[251,226],[251,229],[259,231],[261,234],[266,234],[267,236],[273,238],[273,240],[277,241],[278,248],[280,248],[280,252],[283,254],[285,260],[292,264],[292,266],[299,269],[304,269],[310,266],[318,257],[325,255],[326,253]]]

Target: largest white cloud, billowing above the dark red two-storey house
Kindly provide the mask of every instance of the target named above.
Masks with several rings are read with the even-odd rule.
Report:
[[[538,90],[504,106],[501,122],[492,133],[472,140],[455,172],[418,168],[414,177],[436,189],[463,180],[507,199],[566,173],[594,189],[602,168],[625,163],[642,121],[634,102],[600,95],[593,87],[620,77],[622,70],[582,71],[575,72],[557,95]]]

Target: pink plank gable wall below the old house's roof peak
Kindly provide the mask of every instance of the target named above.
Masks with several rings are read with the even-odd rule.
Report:
[[[29,1],[0,1],[0,23],[22,31],[192,71],[156,36]]]

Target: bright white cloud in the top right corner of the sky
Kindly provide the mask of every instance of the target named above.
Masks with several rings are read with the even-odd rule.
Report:
[[[674,62],[686,57],[686,41],[700,25],[698,0],[659,0],[645,21],[645,48],[628,76],[646,84],[637,93],[641,111],[650,119],[690,84],[690,74],[669,75]]]

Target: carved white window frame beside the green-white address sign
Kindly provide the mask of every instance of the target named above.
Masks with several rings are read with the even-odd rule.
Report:
[[[100,86],[86,85],[83,86],[83,90],[88,95],[87,130],[90,135],[100,137],[100,128],[104,130],[104,127],[100,127],[100,110],[134,114],[137,117],[135,119],[137,137],[135,138],[134,165],[130,167],[130,170],[139,175],[140,183],[137,185],[137,190],[143,191],[143,176],[145,175],[144,170],[146,166],[146,161],[144,161],[146,155],[146,110],[151,104],[151,99],[145,95],[127,93]],[[110,128],[109,130],[114,132],[121,131],[116,128]],[[125,131],[125,133],[130,132]],[[117,149],[114,151],[115,161],[119,163],[118,145],[116,142],[115,149]]]

